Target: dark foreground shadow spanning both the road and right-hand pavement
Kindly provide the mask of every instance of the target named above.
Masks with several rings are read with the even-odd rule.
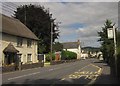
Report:
[[[116,79],[111,78],[110,75],[101,75],[99,78],[97,78],[97,80],[92,83],[93,85],[98,85],[98,84],[118,84],[117,81],[115,81]],[[58,84],[80,84],[80,85],[86,85],[87,83],[89,83],[91,80],[90,79],[85,79],[85,77],[81,77],[80,79],[71,79],[71,80],[61,80],[61,79],[38,79],[38,80],[30,80],[30,79],[26,79],[22,84],[19,85],[50,85],[50,86],[57,86]],[[15,85],[15,82],[10,82],[8,84],[12,84]],[[8,84],[4,84],[2,86],[6,86]]]

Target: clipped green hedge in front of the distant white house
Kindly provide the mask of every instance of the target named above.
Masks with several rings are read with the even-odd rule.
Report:
[[[72,60],[77,59],[77,54],[71,51],[62,51],[61,53],[62,60]]]

